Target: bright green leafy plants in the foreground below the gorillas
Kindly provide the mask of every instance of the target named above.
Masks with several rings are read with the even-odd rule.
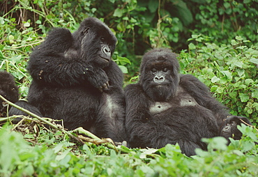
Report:
[[[38,127],[38,132],[33,132]],[[178,145],[116,153],[105,146],[69,142],[60,131],[34,125],[22,134],[0,130],[0,176],[257,176],[257,130],[243,125],[244,138],[226,146],[226,139],[204,139],[208,151],[186,157]],[[20,127],[22,128],[22,127]],[[19,128],[19,129],[20,129]],[[31,129],[31,132],[28,130]],[[31,136],[28,136],[29,134]],[[248,137],[245,135],[248,134]],[[98,148],[97,148],[98,147]],[[99,152],[103,153],[99,153]]]

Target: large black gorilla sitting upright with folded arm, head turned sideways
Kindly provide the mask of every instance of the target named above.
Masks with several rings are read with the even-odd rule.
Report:
[[[122,141],[123,73],[111,60],[115,47],[112,31],[93,17],[75,33],[53,29],[30,56],[29,104],[43,116],[63,119],[69,130],[82,127]]]

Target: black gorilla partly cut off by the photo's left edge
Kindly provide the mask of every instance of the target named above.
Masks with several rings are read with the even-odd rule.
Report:
[[[0,95],[10,102],[17,102],[19,99],[19,90],[15,84],[15,78],[5,71],[0,72]],[[3,104],[3,100],[0,99],[0,117],[6,116],[7,112],[7,105]]]

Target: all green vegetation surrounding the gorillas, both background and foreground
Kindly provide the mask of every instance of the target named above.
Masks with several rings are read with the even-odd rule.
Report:
[[[84,18],[116,34],[114,60],[125,85],[137,81],[142,54],[169,47],[181,73],[198,77],[231,113],[250,118],[240,141],[204,139],[208,151],[190,158],[179,146],[159,150],[107,148],[77,141],[37,119],[0,129],[0,176],[258,176],[258,3],[255,0],[0,0],[0,70],[14,75],[26,99],[26,62],[47,31],[75,31]],[[130,81],[130,79],[132,81]],[[256,127],[256,128],[255,128]],[[75,132],[73,132],[75,136]]]

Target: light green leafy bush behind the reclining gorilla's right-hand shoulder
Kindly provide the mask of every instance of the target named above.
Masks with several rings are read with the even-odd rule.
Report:
[[[231,114],[258,121],[258,46],[236,36],[230,45],[215,45],[208,37],[193,35],[189,52],[180,54],[182,72],[198,77]],[[248,43],[248,45],[245,45]]]

